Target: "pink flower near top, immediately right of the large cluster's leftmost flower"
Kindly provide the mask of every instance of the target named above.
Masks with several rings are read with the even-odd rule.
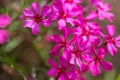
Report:
[[[54,15],[51,18],[58,19],[58,28],[59,30],[63,29],[67,26],[67,23],[70,23],[72,26],[74,25],[74,17],[78,14],[82,14],[81,7],[75,7],[72,10],[69,10],[67,6],[62,3],[62,1],[58,0],[52,4],[52,9]]]

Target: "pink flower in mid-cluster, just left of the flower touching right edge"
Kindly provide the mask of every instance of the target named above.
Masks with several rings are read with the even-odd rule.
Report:
[[[82,38],[83,42],[90,43],[96,40],[99,36],[100,28],[96,27],[95,29],[91,29],[88,26],[79,26],[73,29],[74,40],[78,39],[79,37]]]

